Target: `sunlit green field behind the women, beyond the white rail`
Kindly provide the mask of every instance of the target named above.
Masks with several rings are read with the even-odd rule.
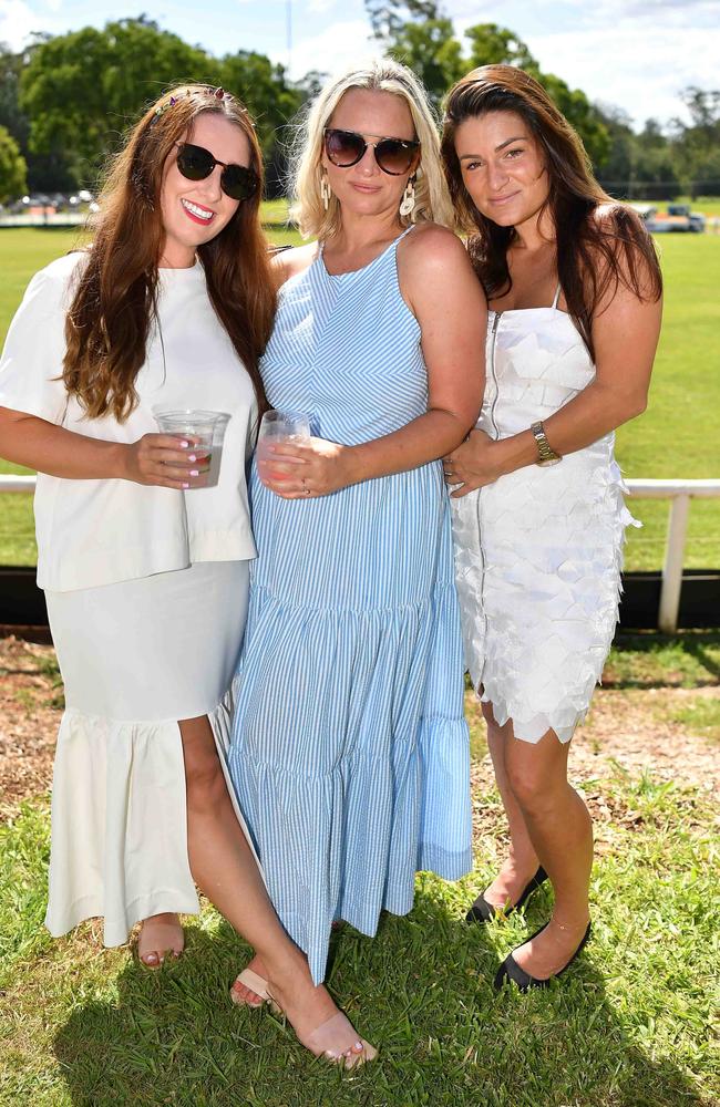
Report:
[[[659,205],[661,206],[661,205]],[[720,201],[693,208],[720,214]],[[284,201],[265,205],[268,232],[278,244],[299,241],[285,225]],[[72,230],[0,229],[0,339],[30,276],[79,241]],[[720,235],[658,236],[666,279],[662,337],[648,411],[618,432],[618,459],[627,477],[720,477]],[[0,462],[0,472],[22,472]],[[0,563],[35,560],[30,497],[2,497]],[[644,527],[632,529],[628,569],[662,565],[668,504],[636,500]],[[686,565],[720,566],[720,500],[690,510]]]

